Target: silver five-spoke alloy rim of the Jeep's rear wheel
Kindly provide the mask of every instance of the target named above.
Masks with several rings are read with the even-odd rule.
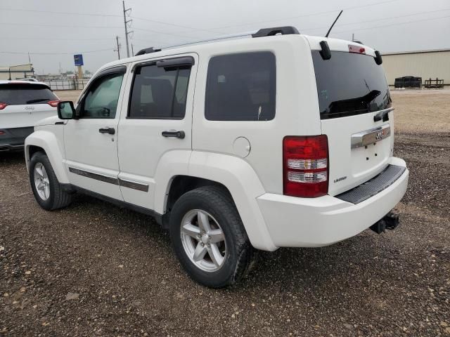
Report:
[[[188,211],[181,220],[181,243],[191,262],[205,272],[216,272],[225,263],[225,234],[210,213]]]

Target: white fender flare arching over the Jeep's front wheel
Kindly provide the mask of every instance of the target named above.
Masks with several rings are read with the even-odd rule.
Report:
[[[51,167],[55,171],[56,178],[62,184],[69,183],[63,164],[64,147],[54,133],[45,130],[34,131],[25,139],[25,161],[27,170],[30,170],[30,146],[37,146],[44,149],[49,157]]]

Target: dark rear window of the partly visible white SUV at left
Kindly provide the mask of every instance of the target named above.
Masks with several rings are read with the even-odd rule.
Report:
[[[7,105],[44,104],[58,97],[41,84],[1,84],[0,102]]]

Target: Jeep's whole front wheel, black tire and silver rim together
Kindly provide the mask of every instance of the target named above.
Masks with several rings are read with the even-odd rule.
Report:
[[[72,196],[63,190],[44,152],[36,152],[30,160],[30,183],[37,203],[47,211],[61,209],[72,201]]]

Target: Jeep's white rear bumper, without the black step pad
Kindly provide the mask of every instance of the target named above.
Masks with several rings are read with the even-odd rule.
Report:
[[[406,168],[399,158],[393,157],[390,164]],[[359,204],[330,195],[304,199],[270,193],[258,197],[257,203],[277,247],[328,246],[383,218],[404,196],[408,178],[406,169],[392,185]]]

